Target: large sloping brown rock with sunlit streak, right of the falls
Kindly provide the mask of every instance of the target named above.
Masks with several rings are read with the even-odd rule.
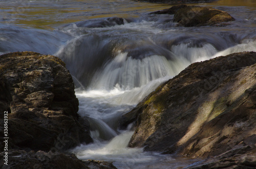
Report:
[[[256,52],[191,64],[121,118],[122,127],[136,122],[130,147],[190,157],[255,155],[255,70]]]

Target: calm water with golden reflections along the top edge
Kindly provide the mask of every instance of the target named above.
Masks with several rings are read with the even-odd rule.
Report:
[[[55,29],[61,24],[92,18],[111,16],[124,18],[139,17],[144,13],[173,6],[169,4],[154,4],[130,0],[1,0],[0,4],[2,16],[0,21],[2,23],[41,29]],[[221,0],[207,4],[201,3],[199,5],[211,7],[245,6],[248,9],[255,10],[256,0]]]

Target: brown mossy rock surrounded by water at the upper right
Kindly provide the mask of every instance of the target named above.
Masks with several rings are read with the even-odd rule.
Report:
[[[223,26],[234,18],[227,12],[210,7],[199,6],[173,6],[169,9],[152,12],[150,14],[174,14],[173,22],[176,26]]]

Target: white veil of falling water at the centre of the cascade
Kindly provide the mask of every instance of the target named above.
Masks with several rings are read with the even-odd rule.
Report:
[[[186,62],[185,60],[183,60]],[[165,57],[152,55],[143,59],[127,57],[127,52],[119,54],[103,70],[97,72],[92,80],[92,89],[110,90],[120,86],[123,90],[131,90],[146,85],[148,82],[165,76],[174,76],[184,69],[181,59],[168,61]]]

